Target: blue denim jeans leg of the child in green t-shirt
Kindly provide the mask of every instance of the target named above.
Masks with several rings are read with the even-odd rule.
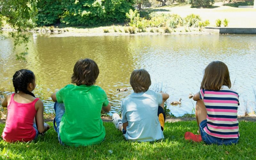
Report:
[[[63,114],[65,113],[64,103],[55,102],[53,108],[56,114],[55,118],[53,119],[53,127],[54,127],[54,130],[58,133],[58,139],[60,144],[64,145],[60,140],[60,132],[59,132],[60,121]],[[55,122],[56,122],[56,125],[55,125]]]

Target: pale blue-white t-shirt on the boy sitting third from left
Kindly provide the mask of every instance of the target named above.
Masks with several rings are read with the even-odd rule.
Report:
[[[133,92],[121,102],[122,123],[128,122],[124,137],[132,141],[155,141],[164,138],[157,116],[163,102],[161,93],[151,90]]]

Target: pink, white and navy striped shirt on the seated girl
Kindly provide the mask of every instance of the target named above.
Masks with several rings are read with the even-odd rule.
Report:
[[[238,93],[225,85],[220,90],[201,89],[199,93],[207,111],[204,131],[214,137],[238,138]]]

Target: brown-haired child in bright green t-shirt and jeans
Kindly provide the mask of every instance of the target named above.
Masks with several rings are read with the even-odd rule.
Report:
[[[104,140],[106,132],[100,112],[109,112],[110,103],[105,91],[94,85],[98,75],[95,61],[78,60],[71,78],[76,85],[68,84],[52,93],[56,113],[53,125],[60,144],[88,146]]]

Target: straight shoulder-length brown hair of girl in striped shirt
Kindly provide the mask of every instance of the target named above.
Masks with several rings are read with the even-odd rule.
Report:
[[[201,89],[220,90],[222,85],[226,85],[228,88],[231,88],[228,67],[221,61],[212,61],[204,69]]]

